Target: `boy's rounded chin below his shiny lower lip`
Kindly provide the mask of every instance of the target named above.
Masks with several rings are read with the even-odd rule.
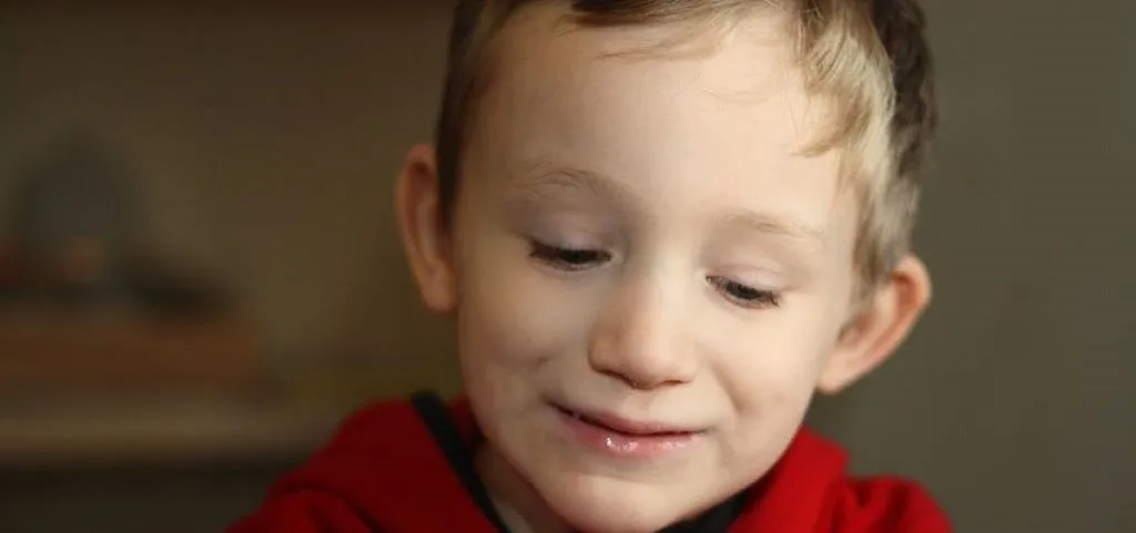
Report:
[[[541,490],[552,510],[577,531],[588,533],[653,533],[685,516],[690,504],[675,487],[628,480],[574,476],[549,479]],[[690,494],[692,497],[693,494]]]

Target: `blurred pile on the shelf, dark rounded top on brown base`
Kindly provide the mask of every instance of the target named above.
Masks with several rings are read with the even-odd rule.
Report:
[[[260,335],[223,284],[147,246],[139,180],[108,145],[66,137],[16,178],[0,244],[0,391],[264,380]]]

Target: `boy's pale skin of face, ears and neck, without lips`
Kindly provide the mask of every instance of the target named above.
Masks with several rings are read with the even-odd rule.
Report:
[[[893,352],[929,278],[908,256],[853,305],[858,206],[838,152],[801,154],[828,110],[779,15],[641,54],[678,29],[556,31],[565,12],[503,29],[451,229],[429,146],[399,221],[426,305],[457,319],[478,468],[512,525],[658,531],[760,479],[816,391]],[[698,434],[612,457],[550,403]]]

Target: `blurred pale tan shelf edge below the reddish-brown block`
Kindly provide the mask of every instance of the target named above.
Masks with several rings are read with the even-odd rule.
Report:
[[[0,467],[270,460],[324,442],[343,414],[223,398],[0,400]]]

